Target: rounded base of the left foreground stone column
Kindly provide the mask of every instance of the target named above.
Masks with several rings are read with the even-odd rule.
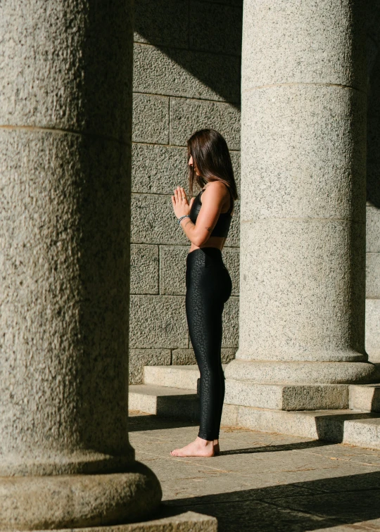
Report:
[[[2,477],[0,530],[125,524],[149,517],[161,498],[156,475],[139,462],[126,473]]]

